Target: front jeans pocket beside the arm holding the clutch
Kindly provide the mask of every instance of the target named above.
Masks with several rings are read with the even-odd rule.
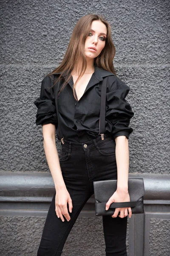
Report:
[[[116,144],[114,140],[109,140],[98,145],[98,152],[102,156],[112,156],[115,155]]]

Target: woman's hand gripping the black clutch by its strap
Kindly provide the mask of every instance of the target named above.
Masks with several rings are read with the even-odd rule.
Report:
[[[107,204],[106,204],[106,210],[109,209],[110,205],[112,203],[119,203],[119,202],[129,202],[130,201],[130,196],[128,191],[115,191],[114,194],[109,198]],[[129,218],[132,216],[132,210],[131,207],[126,207],[126,208],[116,208],[114,214],[111,216],[112,218],[116,218],[118,213],[120,212],[120,215],[118,215],[120,218],[124,218],[128,215],[127,209],[129,211]]]

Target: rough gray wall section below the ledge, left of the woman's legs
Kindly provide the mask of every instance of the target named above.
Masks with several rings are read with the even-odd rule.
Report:
[[[36,256],[44,217],[0,217],[0,256]]]

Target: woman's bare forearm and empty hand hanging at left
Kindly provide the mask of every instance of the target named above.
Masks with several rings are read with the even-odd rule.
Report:
[[[55,210],[58,218],[61,218],[64,221],[65,216],[66,220],[70,220],[70,215],[68,213],[72,212],[72,200],[68,190],[65,186],[62,172],[59,164],[59,157],[56,148],[55,142],[55,125],[53,124],[45,124],[42,125],[42,134],[44,138],[44,150],[45,156],[47,159],[47,163],[51,172],[51,175],[54,180],[54,185],[56,189],[56,198],[55,198]],[[68,208],[67,208],[68,204]]]

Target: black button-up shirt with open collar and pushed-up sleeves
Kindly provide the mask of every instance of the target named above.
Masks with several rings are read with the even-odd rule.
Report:
[[[36,124],[54,124],[57,137],[60,138],[55,101],[58,86],[56,84],[51,87],[54,84],[54,78],[57,78],[55,76],[59,75],[46,76],[42,80],[40,98],[34,104],[38,108]],[[63,77],[65,76],[64,74]],[[72,77],[59,93],[59,122],[65,140],[84,143],[101,136],[99,134],[99,113],[102,82],[99,82],[107,76],[105,134],[109,134],[112,138],[121,135],[128,138],[133,131],[128,125],[134,113],[125,100],[130,88],[113,73],[95,66],[95,71],[79,101],[73,95]],[[62,83],[60,81],[60,88]]]

